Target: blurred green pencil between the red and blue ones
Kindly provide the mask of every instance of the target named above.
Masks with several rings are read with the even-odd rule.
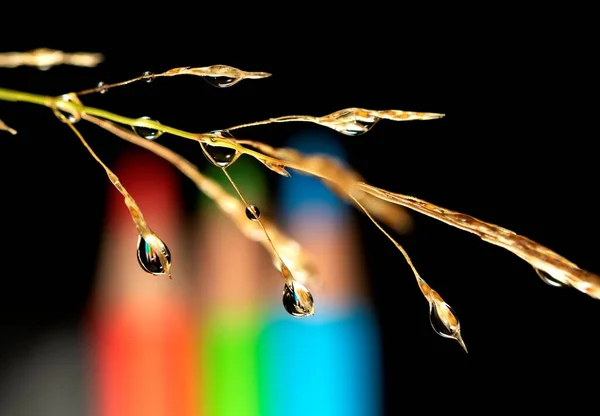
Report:
[[[254,160],[242,157],[228,172],[247,201],[264,210],[261,169]],[[211,166],[207,174],[237,198],[220,169]],[[244,236],[213,201],[202,197],[199,208],[194,257],[200,319],[196,365],[203,388],[198,393],[200,413],[258,416],[257,341],[264,321],[261,293],[264,269],[272,266],[262,247]]]

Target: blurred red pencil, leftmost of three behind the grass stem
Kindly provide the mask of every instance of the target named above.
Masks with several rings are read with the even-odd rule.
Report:
[[[152,230],[173,256],[173,280],[140,268],[137,230],[116,190],[108,194],[107,229],[90,308],[94,409],[98,416],[190,416],[193,360],[182,291],[177,176],[166,162],[136,152],[115,169]]]

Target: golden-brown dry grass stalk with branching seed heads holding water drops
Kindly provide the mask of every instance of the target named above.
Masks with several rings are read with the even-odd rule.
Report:
[[[21,59],[23,64],[24,62],[28,62],[23,57],[21,57]],[[68,60],[65,61],[64,56],[63,61],[64,62],[61,63],[68,62]],[[36,65],[40,66],[40,62],[50,62],[50,60],[46,59],[46,61],[43,61],[41,58],[38,58],[38,61],[31,62],[37,62]],[[201,191],[212,198],[223,212],[227,213],[230,218],[232,218],[246,236],[261,242],[267,250],[270,251],[275,266],[279,268],[286,279],[284,304],[286,299],[292,299],[292,301],[294,301],[294,299],[301,299],[302,302],[304,302],[300,302],[299,304],[290,303],[290,305],[295,308],[294,311],[298,313],[296,316],[312,314],[307,313],[312,311],[312,295],[310,295],[310,292],[302,285],[299,285],[298,288],[296,288],[293,284],[295,279],[292,277],[292,272],[297,274],[297,278],[300,279],[302,279],[302,276],[310,277],[313,273],[307,259],[303,257],[299,245],[281,233],[267,220],[259,220],[258,215],[255,215],[256,218],[253,218],[255,221],[248,221],[244,211],[252,207],[247,204],[243,195],[233,182],[233,179],[229,177],[225,166],[221,166],[223,172],[227,175],[228,179],[230,179],[243,204],[223,191],[223,189],[215,182],[202,176],[194,165],[180,155],[146,139],[151,138],[154,140],[163,133],[170,133],[175,136],[199,142],[202,146],[202,150],[209,157],[210,155],[207,153],[206,145],[211,147],[224,147],[234,152],[234,157],[230,163],[235,162],[235,159],[240,155],[246,154],[257,159],[270,170],[283,176],[289,176],[287,169],[295,169],[304,174],[320,178],[339,196],[353,202],[360,208],[380,231],[393,242],[408,262],[421,292],[429,302],[430,317],[434,329],[442,336],[457,340],[465,350],[466,347],[460,333],[460,323],[450,306],[425,282],[424,279],[421,278],[404,248],[398,244],[381,225],[379,225],[377,219],[393,227],[397,231],[402,231],[403,227],[408,224],[410,217],[405,211],[399,210],[399,207],[423,213],[456,228],[474,233],[484,241],[513,252],[531,264],[538,275],[548,283],[572,286],[591,297],[600,299],[600,276],[580,269],[567,259],[559,256],[557,253],[526,237],[517,235],[516,233],[497,225],[485,223],[468,215],[447,210],[417,198],[389,192],[369,185],[363,181],[358,173],[342,166],[338,161],[330,157],[324,155],[303,155],[294,149],[288,148],[277,149],[258,141],[236,139],[231,136],[230,133],[230,131],[233,130],[270,123],[310,122],[331,128],[348,136],[358,136],[367,133],[375,124],[384,119],[392,121],[431,120],[441,118],[444,116],[443,114],[401,110],[369,110],[353,107],[319,117],[307,115],[283,116],[241,124],[219,132],[191,133],[163,125],[147,117],[133,119],[102,109],[88,107],[83,105],[78,98],[80,95],[98,92],[102,93],[109,88],[127,85],[140,80],[150,82],[157,77],[170,77],[176,75],[201,76],[210,84],[220,88],[235,85],[243,79],[257,79],[270,76],[270,74],[265,72],[246,72],[226,65],[213,65],[201,68],[180,67],[160,74],[146,72],[140,77],[115,84],[101,83],[96,88],[80,91],[79,93],[65,94],[59,97],[40,96],[0,88],[0,99],[43,105],[50,107],[55,111],[57,117],[67,123],[78,135],[92,156],[94,156],[106,170],[111,182],[124,195],[125,202],[128,208],[130,208],[134,222],[136,222],[136,226],[138,226],[138,230],[140,230],[139,224],[145,224],[145,222],[143,221],[141,213],[139,213],[139,209],[135,205],[135,201],[133,201],[131,196],[128,195],[124,188],[122,188],[118,178],[112,174],[110,169],[100,161],[89,145],[87,145],[79,131],[74,127],[74,123],[81,119],[92,122],[125,140],[141,147],[145,147],[173,163],[186,174],[186,176],[192,179]],[[146,137],[146,139],[140,138],[132,131],[115,123],[127,125],[137,133],[139,133],[140,129],[146,129],[146,131],[154,132],[154,134],[152,134],[151,137]],[[4,125],[4,123],[2,123],[0,127],[1,126],[5,126],[4,130],[10,132],[14,131]],[[228,134],[223,134],[224,132],[227,132]],[[213,160],[213,162],[216,161]],[[132,207],[135,209],[132,210]],[[252,212],[256,214],[255,211],[251,210],[251,213]],[[137,215],[137,213],[139,213],[139,215]],[[139,220],[136,221],[136,218]],[[398,218],[400,218],[400,220]],[[142,231],[140,231],[140,235],[142,235]],[[162,260],[164,259],[161,258],[161,262]],[[310,309],[305,309],[304,306],[306,305],[309,305]],[[288,305],[286,305],[286,309],[287,308]],[[295,314],[295,312],[290,309],[288,309],[288,311]]]

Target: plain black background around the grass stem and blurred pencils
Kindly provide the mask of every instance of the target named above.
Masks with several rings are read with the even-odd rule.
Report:
[[[144,21],[131,34],[107,18],[98,25],[108,32],[99,40],[66,33],[45,40],[38,32],[28,41],[13,31],[1,50],[86,50],[106,61],[95,69],[2,69],[0,85],[58,95],[146,70],[219,63],[273,76],[229,89],[182,76],[85,102],[198,132],[353,106],[445,113],[431,122],[383,121],[367,135],[340,140],[370,183],[502,225],[600,272],[598,116],[587,101],[595,99],[597,81],[586,25],[575,19],[567,30],[542,14],[484,14],[403,30],[411,15],[354,12],[357,20],[293,24],[286,14],[273,18],[282,27],[261,22],[243,29],[227,19],[214,28],[200,19],[185,30],[153,31]],[[139,21],[132,16],[131,23]],[[71,32],[94,30],[80,23]],[[0,102],[0,118],[19,131],[0,138],[0,351],[10,361],[40,333],[80,319],[93,287],[106,177],[47,109]],[[278,145],[300,128],[250,129],[247,137]],[[81,129],[109,165],[130,146],[94,126]],[[205,163],[192,143],[171,136],[162,142]],[[183,183],[195,200],[193,185]],[[483,398],[486,407],[585,402],[576,391],[597,366],[598,301],[545,285],[527,263],[471,234],[416,213],[414,219],[414,232],[399,241],[454,307],[470,352],[431,330],[402,257],[357,213],[383,331],[390,414],[407,405],[460,411]],[[33,293],[28,274],[41,276]]]

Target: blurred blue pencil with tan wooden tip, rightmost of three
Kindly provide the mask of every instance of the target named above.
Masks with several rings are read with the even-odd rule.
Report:
[[[329,133],[308,131],[289,147],[343,153]],[[319,180],[292,172],[281,179],[284,228],[311,255],[322,286],[309,287],[315,316],[292,318],[279,300],[261,337],[262,415],[378,415],[382,412],[377,322],[365,294],[350,207]]]

